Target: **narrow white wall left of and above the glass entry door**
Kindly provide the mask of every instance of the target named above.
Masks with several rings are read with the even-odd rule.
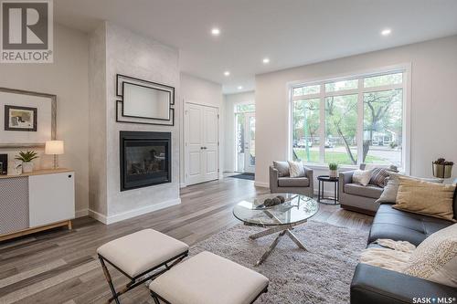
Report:
[[[255,104],[254,91],[242,92],[237,94],[224,95],[224,130],[225,130],[225,148],[224,148],[224,171],[236,171],[235,162],[235,106],[237,104],[249,103]]]

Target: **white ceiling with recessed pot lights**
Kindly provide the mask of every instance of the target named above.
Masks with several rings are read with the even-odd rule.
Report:
[[[457,34],[456,0],[57,0],[54,10],[65,26],[109,20],[178,47],[182,71],[225,93],[254,89],[256,74]]]

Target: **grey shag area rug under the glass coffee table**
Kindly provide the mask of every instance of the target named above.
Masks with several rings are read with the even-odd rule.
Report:
[[[210,251],[270,278],[268,293],[256,304],[349,303],[349,286],[358,257],[367,246],[367,232],[309,221],[293,230],[309,251],[283,236],[271,256],[254,267],[277,236],[248,237],[261,230],[235,225],[192,246],[190,256]]]

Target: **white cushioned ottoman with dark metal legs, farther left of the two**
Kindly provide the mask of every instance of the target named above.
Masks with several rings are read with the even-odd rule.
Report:
[[[122,236],[97,249],[101,267],[112,298],[119,302],[119,296],[149,279],[154,279],[174,267],[188,254],[189,246],[153,229],[144,229],[128,236]],[[118,269],[130,282],[116,291],[105,262]],[[154,271],[154,273],[153,273]]]

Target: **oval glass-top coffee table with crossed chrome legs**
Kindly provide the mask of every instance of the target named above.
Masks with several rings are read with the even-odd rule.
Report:
[[[273,206],[265,205],[267,199],[282,196],[284,203]],[[250,239],[257,239],[262,236],[269,236],[275,233],[279,235],[271,243],[271,246],[257,261],[259,266],[273,249],[278,245],[282,236],[289,236],[292,241],[306,250],[302,242],[293,235],[292,230],[296,225],[305,223],[310,217],[314,216],[319,210],[319,204],[311,197],[302,194],[264,194],[256,196],[246,201],[239,202],[233,208],[233,215],[244,225],[255,225],[267,228],[260,233],[250,236]]]

